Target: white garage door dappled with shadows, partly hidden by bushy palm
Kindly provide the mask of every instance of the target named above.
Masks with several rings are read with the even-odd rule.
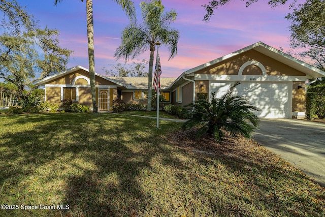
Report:
[[[210,81],[211,92],[216,92],[216,98],[221,97],[234,82]],[[236,87],[235,93],[244,96],[248,101],[261,109],[254,112],[258,117],[287,118],[288,115],[288,83],[278,82],[242,82]]]

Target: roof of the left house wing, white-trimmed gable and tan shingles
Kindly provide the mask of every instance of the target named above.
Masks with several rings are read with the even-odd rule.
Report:
[[[39,86],[45,85],[47,82],[51,82],[56,78],[76,72],[80,69],[89,72],[88,69],[78,65],[62,72],[59,72],[55,75],[47,76],[39,81],[36,81],[34,84]],[[126,89],[148,89],[148,77],[106,77],[98,73],[95,73],[95,75],[104,78],[108,81],[111,81],[117,86],[125,87]],[[160,78],[160,88],[166,89],[175,79],[176,78]]]

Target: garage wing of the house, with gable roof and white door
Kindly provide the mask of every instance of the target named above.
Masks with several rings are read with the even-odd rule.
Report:
[[[258,117],[305,116],[305,82],[325,72],[262,42],[183,72],[169,87],[172,104],[197,100],[198,92],[221,97],[231,83],[241,82],[236,94],[261,109]]]

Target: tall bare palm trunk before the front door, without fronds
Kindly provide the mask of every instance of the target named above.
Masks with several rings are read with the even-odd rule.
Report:
[[[90,89],[91,89],[91,100],[92,100],[92,112],[97,113],[92,0],[86,1],[86,7],[87,7],[88,59],[89,59],[89,77],[90,77]]]

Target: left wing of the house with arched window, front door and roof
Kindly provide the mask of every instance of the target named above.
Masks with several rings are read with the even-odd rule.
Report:
[[[148,78],[106,77],[95,73],[96,100],[98,111],[112,111],[112,101],[122,99],[128,104],[146,104]],[[166,91],[175,78],[161,78],[161,92],[167,102],[171,101],[170,91]],[[87,105],[92,109],[89,70],[76,66],[66,71],[48,76],[35,83],[45,86],[45,101],[60,103],[70,98],[73,103]]]

